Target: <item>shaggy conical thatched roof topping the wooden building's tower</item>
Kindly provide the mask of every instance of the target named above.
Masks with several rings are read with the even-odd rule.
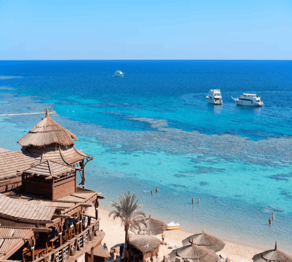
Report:
[[[50,118],[48,108],[45,118],[17,142],[23,147],[43,147],[52,144],[73,146],[77,137]]]

